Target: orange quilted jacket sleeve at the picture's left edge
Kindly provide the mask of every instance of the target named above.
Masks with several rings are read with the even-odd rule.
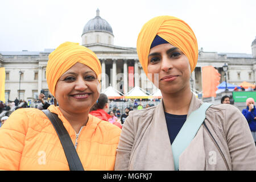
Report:
[[[18,170],[27,133],[24,109],[15,110],[0,128],[0,169]]]

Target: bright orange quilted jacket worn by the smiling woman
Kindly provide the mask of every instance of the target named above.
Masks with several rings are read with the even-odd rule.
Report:
[[[48,109],[63,121],[85,170],[114,169],[119,127],[89,114],[77,136],[58,107]],[[0,128],[0,169],[69,170],[59,137],[41,110],[18,109]]]

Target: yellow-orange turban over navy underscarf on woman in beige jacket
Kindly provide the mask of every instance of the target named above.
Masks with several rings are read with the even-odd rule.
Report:
[[[191,27],[174,16],[157,16],[144,24],[137,39],[137,53],[146,75],[148,54],[156,35],[179,48],[188,57],[191,72],[193,72],[198,58],[198,46]]]

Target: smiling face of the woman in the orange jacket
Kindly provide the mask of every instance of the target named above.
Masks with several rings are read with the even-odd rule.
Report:
[[[57,81],[55,96],[60,109],[71,113],[89,110],[100,96],[96,73],[88,66],[76,63]]]

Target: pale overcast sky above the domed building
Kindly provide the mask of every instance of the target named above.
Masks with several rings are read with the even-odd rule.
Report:
[[[0,51],[81,44],[82,30],[97,8],[112,26],[115,46],[136,47],[143,24],[159,15],[187,22],[204,51],[251,54],[256,36],[255,0],[0,0],[0,7]]]

